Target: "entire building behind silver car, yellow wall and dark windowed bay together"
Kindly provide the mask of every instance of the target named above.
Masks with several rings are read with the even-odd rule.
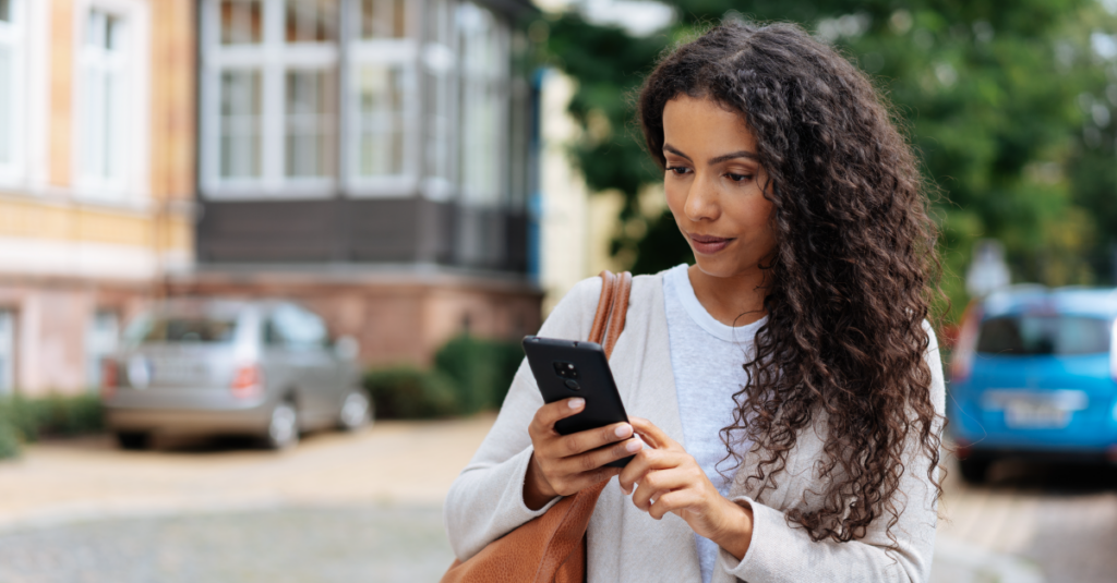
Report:
[[[369,364],[537,329],[527,0],[0,0],[0,395],[166,296],[286,297]]]

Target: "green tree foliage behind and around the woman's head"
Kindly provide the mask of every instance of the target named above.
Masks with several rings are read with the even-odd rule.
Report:
[[[613,254],[633,273],[689,258],[669,217],[640,213],[662,180],[632,125],[632,95],[656,58],[723,18],[794,21],[857,63],[894,106],[939,197],[943,286],[957,317],[976,239],[996,238],[1015,281],[1111,280],[1117,248],[1117,64],[1091,35],[1117,31],[1092,0],[667,0],[677,21],[646,38],[571,11],[545,22],[543,58],[577,80],[573,160],[626,204]],[[629,233],[641,233],[632,237]]]

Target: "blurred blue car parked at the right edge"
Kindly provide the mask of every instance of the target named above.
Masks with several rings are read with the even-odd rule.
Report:
[[[966,308],[947,415],[962,477],[1009,457],[1117,462],[1117,289],[1013,286]]]

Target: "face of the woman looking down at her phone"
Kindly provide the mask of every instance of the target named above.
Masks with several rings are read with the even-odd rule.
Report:
[[[667,206],[714,277],[755,275],[772,254],[772,203],[761,185],[756,138],[739,113],[686,95],[663,107]]]

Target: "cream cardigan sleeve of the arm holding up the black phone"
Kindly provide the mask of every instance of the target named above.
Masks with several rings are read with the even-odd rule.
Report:
[[[601,278],[575,285],[555,306],[538,335],[584,340],[589,336],[600,294]],[[543,396],[525,359],[493,429],[446,497],[446,532],[459,560],[466,561],[493,541],[541,516],[558,499],[538,510],[524,504],[524,478],[532,459],[527,426],[542,405]]]

